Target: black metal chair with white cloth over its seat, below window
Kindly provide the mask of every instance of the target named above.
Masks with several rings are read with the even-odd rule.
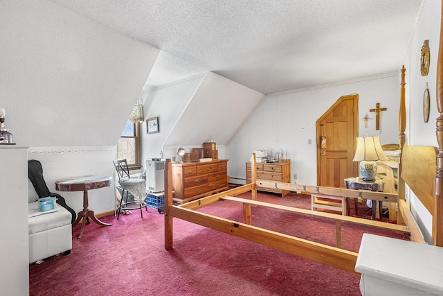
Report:
[[[134,209],[140,209],[141,218],[143,218],[142,209],[145,208],[147,211],[145,202],[146,181],[141,178],[131,178],[126,159],[114,160],[114,166],[116,167],[118,175],[118,184],[123,189],[121,200],[118,202],[117,220],[120,217],[120,211],[129,211]],[[125,193],[126,198],[125,201],[123,201]],[[128,202],[127,198],[129,193],[134,196],[134,201]]]

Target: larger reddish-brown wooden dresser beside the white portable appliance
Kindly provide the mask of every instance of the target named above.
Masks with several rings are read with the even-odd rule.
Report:
[[[172,190],[176,202],[188,202],[228,189],[228,159],[173,162]]]

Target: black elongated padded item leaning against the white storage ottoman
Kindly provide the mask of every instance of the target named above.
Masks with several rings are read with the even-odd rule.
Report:
[[[49,191],[43,178],[42,164],[38,160],[28,160],[28,177],[30,182],[33,183],[35,192],[37,192],[39,198],[46,198],[48,196],[51,196],[51,198],[57,198],[57,204],[60,204],[71,213],[71,224],[73,224],[75,222],[75,218],[77,218],[77,214],[66,204],[66,201],[62,195]]]

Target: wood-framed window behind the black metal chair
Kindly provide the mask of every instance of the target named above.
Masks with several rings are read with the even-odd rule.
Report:
[[[140,124],[127,121],[117,144],[118,159],[126,159],[132,169],[141,168]]]

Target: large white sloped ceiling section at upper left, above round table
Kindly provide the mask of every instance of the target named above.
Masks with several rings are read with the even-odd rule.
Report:
[[[159,49],[49,1],[0,1],[0,107],[21,146],[115,146]]]

